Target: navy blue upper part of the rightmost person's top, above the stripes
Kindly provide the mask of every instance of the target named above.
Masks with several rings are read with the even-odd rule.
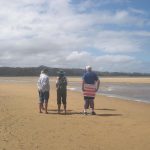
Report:
[[[98,80],[98,76],[96,75],[95,72],[86,72],[83,75],[83,80],[85,81],[86,84],[94,84],[95,81]]]

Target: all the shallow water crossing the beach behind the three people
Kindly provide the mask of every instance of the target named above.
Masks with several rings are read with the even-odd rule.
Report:
[[[0,83],[33,83],[36,85],[37,79],[38,77],[0,77]],[[53,79],[51,82],[55,82],[55,80]],[[81,92],[81,82],[69,82],[68,90]],[[150,83],[102,82],[97,94],[150,103]]]

